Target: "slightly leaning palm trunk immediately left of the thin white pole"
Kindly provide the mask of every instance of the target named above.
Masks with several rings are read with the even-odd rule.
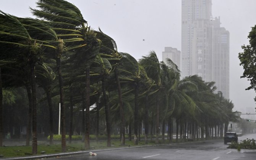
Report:
[[[53,112],[52,112],[52,98],[49,90],[50,86],[46,86],[45,92],[47,95],[47,101],[49,106],[49,123],[50,123],[50,141],[49,144],[53,144]]]

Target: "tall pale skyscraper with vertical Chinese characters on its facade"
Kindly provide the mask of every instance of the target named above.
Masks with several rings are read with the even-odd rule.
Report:
[[[229,98],[229,32],[212,18],[212,0],[182,0],[181,76],[216,82]]]

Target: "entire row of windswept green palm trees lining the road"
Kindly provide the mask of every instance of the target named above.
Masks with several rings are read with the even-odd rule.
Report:
[[[111,37],[100,29],[91,29],[80,10],[65,0],[38,0],[37,8],[31,11],[39,19],[18,18],[0,11],[0,94],[2,88],[26,87],[29,99],[26,145],[29,145],[32,125],[33,154],[37,154],[38,87],[44,89],[45,98],[41,100],[47,100],[49,106],[50,143],[53,141],[52,98],[59,97],[63,152],[66,133],[69,142],[72,139],[74,106],[81,106],[83,112],[86,149],[90,148],[90,117],[94,113],[97,115],[96,137],[99,116],[105,117],[107,146],[111,146],[113,123],[120,126],[121,144],[125,145],[125,127],[131,127],[131,123],[134,123],[134,144],[140,139],[138,128],[142,122],[145,143],[151,126],[155,128],[158,144],[160,124],[162,141],[167,124],[171,140],[174,119],[177,131],[180,126],[180,134],[190,131],[193,138],[199,137],[199,128],[202,138],[204,134],[206,138],[213,136],[214,129],[217,136],[217,128],[220,135],[223,124],[227,130],[228,122],[237,120],[232,102],[221,92],[215,94],[214,82],[204,82],[197,75],[181,80],[180,70],[172,60],[167,59],[167,64],[160,62],[154,51],[138,61],[128,53],[119,52]],[[93,104],[96,107],[90,111]],[[67,106],[69,131],[65,126]],[[0,114],[3,114],[2,103]],[[0,146],[2,128],[0,120]]]

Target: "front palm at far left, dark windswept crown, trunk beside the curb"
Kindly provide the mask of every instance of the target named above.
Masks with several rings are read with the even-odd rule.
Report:
[[[29,66],[30,69],[30,80],[31,80],[31,91],[32,91],[32,153],[37,154],[37,122],[36,122],[36,80],[35,80],[35,65],[37,62],[41,61],[41,46],[44,41],[36,40],[32,36],[31,32],[27,28],[33,28],[33,25],[37,25],[36,21],[28,19],[30,21],[30,26],[24,24],[24,19],[16,18],[9,14],[3,13],[1,11],[0,21],[5,21],[4,25],[1,25],[0,42],[13,47],[16,55],[13,55],[13,59],[19,60],[24,66]],[[32,27],[31,27],[32,26]],[[38,26],[36,30],[40,30],[41,26]],[[39,45],[37,42],[40,42]]]

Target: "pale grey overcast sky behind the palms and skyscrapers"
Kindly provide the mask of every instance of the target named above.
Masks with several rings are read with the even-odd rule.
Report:
[[[33,17],[29,6],[36,0],[0,0],[0,10],[19,17]],[[68,0],[75,4],[91,28],[100,29],[112,37],[118,51],[139,59],[156,51],[162,61],[164,47],[181,50],[181,0]],[[212,16],[219,17],[221,27],[230,32],[230,100],[234,110],[254,112],[256,96],[245,91],[250,82],[240,79],[241,45],[248,44],[248,33],[256,24],[255,0],[212,0]],[[248,111],[247,111],[248,112]]]

